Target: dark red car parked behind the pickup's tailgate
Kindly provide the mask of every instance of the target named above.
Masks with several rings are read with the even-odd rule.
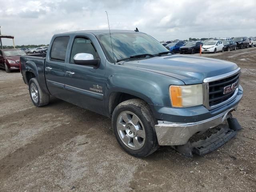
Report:
[[[0,68],[6,70],[20,70],[20,56],[26,53],[20,49],[0,49]]]

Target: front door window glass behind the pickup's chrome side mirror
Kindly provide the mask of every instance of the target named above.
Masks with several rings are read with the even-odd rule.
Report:
[[[74,63],[74,56],[78,53],[89,53],[93,55],[94,59],[99,58],[92,41],[87,38],[75,38],[70,54],[70,63]]]

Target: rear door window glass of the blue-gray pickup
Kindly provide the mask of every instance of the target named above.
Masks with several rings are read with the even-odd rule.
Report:
[[[50,59],[65,62],[66,51],[68,47],[69,37],[57,37],[52,43]]]

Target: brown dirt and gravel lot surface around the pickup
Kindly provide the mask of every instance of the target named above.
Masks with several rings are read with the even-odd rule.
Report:
[[[19,72],[0,70],[0,191],[256,191],[256,48],[202,56],[236,62],[244,97],[242,130],[204,157],[161,147],[124,152],[111,121],[62,100],[36,108]]]

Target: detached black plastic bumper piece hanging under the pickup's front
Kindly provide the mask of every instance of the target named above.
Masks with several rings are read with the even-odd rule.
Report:
[[[175,150],[180,152],[186,157],[192,157],[193,154],[204,156],[208,154],[234,137],[238,130],[241,129],[239,122],[232,116],[227,118],[228,126],[221,128],[217,133],[212,134],[205,140],[199,140],[196,142],[188,142],[184,145],[172,146]]]

